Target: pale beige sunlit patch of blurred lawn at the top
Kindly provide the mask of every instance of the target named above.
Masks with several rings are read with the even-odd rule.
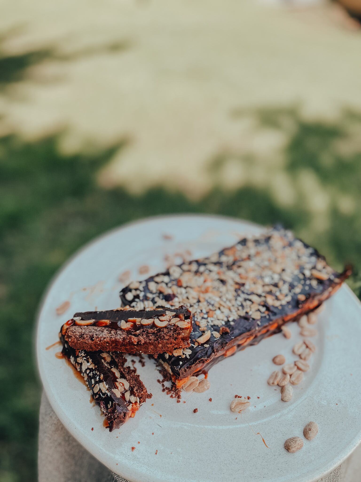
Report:
[[[107,186],[134,192],[160,184],[200,197],[215,183],[208,166],[220,153],[252,153],[259,162],[231,159],[217,183],[239,187],[253,179],[262,186],[271,170],[277,196],[279,183],[288,184],[282,169],[288,134],[258,128],[253,109],[298,104],[304,115],[327,119],[341,107],[361,109],[361,34],[340,25],[328,5],[0,3],[1,31],[17,29],[3,52],[54,49],[0,95],[2,130],[33,137],[67,126],[65,151],[126,137],[128,147],[99,175]]]

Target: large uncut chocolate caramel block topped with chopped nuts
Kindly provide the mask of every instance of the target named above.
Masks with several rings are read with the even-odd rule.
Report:
[[[182,265],[120,292],[123,304],[148,303],[193,313],[191,345],[159,361],[180,387],[190,375],[257,344],[317,308],[349,276],[337,273],[315,249],[275,227],[219,253]]]

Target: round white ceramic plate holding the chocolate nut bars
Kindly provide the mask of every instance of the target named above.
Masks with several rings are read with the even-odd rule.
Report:
[[[89,403],[89,391],[64,360],[55,358],[59,347],[45,349],[74,312],[118,307],[122,272],[130,270],[133,279],[146,278],[149,274],[140,276],[139,267],[149,266],[150,273],[162,271],[167,254],[186,249],[193,257],[210,254],[242,234],[260,230],[218,216],[146,219],[91,242],[52,281],[38,321],[41,379],[64,426],[109,469],[134,482],[313,481],[335,468],[360,442],[361,305],[347,286],[326,302],[319,334],[313,339],[317,352],[309,361],[311,369],[287,403],[267,379],[275,369],[274,355],[284,354],[287,362],[297,358],[292,354],[300,339],[296,323],[290,324],[290,340],[274,335],[215,365],[209,372],[210,389],[184,393],[181,403],[162,393],[155,362],[147,359],[144,368],[137,367],[153,398],[112,433],[103,428],[100,409]],[[55,308],[66,300],[70,308],[57,316]],[[229,409],[235,394],[251,397],[251,407],[242,416]],[[286,452],[284,441],[302,437],[310,420],[319,425],[317,437],[305,440],[295,454]]]

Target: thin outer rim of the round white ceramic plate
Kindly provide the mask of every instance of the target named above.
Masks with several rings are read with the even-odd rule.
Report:
[[[52,290],[52,286],[55,284],[55,281],[57,281],[57,279],[59,278],[59,276],[63,273],[63,271],[73,262],[73,260],[75,258],[77,258],[78,255],[80,255],[83,251],[87,250],[88,248],[90,248],[90,246],[98,243],[99,241],[102,241],[103,239],[109,237],[109,236],[112,236],[114,233],[116,232],[119,232],[119,231],[122,231],[122,230],[125,230],[131,226],[134,226],[134,225],[137,225],[137,224],[143,224],[143,223],[148,223],[148,222],[153,222],[153,221],[156,221],[156,220],[161,220],[161,219],[174,219],[174,218],[179,218],[179,217],[188,217],[188,218],[213,218],[213,219],[219,219],[219,220],[224,220],[224,221],[232,221],[232,222],[238,222],[238,223],[242,223],[244,225],[248,225],[249,227],[253,227],[253,228],[266,228],[266,226],[262,226],[258,223],[254,223],[252,221],[248,221],[248,220],[245,220],[245,219],[242,219],[242,218],[236,218],[236,217],[232,217],[232,216],[224,216],[224,215],[221,215],[221,214],[209,214],[209,213],[176,213],[176,214],[158,214],[158,215],[154,215],[154,216],[149,216],[149,217],[143,217],[143,218],[140,218],[140,219],[136,219],[134,221],[129,221],[127,223],[124,223],[120,226],[116,226],[114,228],[111,228],[105,232],[103,232],[102,234],[99,234],[98,236],[92,238],[90,241],[87,241],[86,243],[84,243],[80,248],[78,248],[64,263],[63,265],[58,268],[56,270],[56,272],[53,274],[51,280],[48,282],[47,284],[47,287],[46,289],[44,290],[44,293],[43,295],[41,296],[40,300],[39,300],[39,304],[38,304],[38,308],[37,308],[37,311],[36,311],[36,317],[35,317],[35,320],[36,320],[36,329],[34,331],[34,335],[35,335],[35,350],[36,350],[36,364],[37,364],[37,370],[38,370],[38,375],[39,375],[39,378],[41,380],[41,383],[42,383],[42,386],[43,386],[43,390],[45,392],[45,395],[50,403],[50,405],[52,406],[52,409],[54,410],[55,414],[57,415],[57,417],[59,418],[59,420],[61,421],[61,423],[63,424],[63,426],[68,430],[68,432],[77,440],[77,442],[85,448],[85,450],[87,450],[91,455],[93,455],[97,460],[99,460],[101,463],[103,463],[109,470],[111,470],[112,472],[122,476],[122,477],[125,477],[125,478],[128,478],[129,481],[132,481],[132,476],[129,474],[127,474],[127,470],[123,470],[122,473],[118,472],[117,470],[118,469],[115,469],[115,468],[110,468],[106,463],[104,463],[104,461],[100,458],[99,454],[96,454],[95,453],[95,450],[91,450],[91,448],[85,446],[83,444],[83,441],[82,441],[82,438],[81,436],[79,436],[79,434],[77,433],[77,428],[76,427],[73,427],[71,426],[71,424],[69,424],[69,419],[68,419],[68,416],[65,414],[64,410],[60,407],[60,405],[57,403],[56,399],[55,399],[55,396],[52,395],[52,390],[50,388],[50,385],[48,383],[48,380],[46,378],[46,374],[45,372],[43,371],[43,368],[42,368],[42,364],[40,362],[40,346],[39,346],[39,324],[40,324],[40,314],[42,312],[42,309],[44,307],[44,304],[45,304],[45,301],[50,293],[50,291]],[[353,291],[351,290],[351,288],[347,285],[347,284],[343,284],[343,286],[341,287],[342,290],[345,290],[348,292],[348,295],[351,296],[351,298],[354,299],[354,301],[361,307],[361,302],[360,300],[358,299],[358,297],[353,293]],[[358,434],[358,436],[354,437],[347,445],[347,447],[339,454],[338,457],[334,458],[334,460],[332,462],[330,462],[330,464],[328,466],[326,466],[323,470],[320,470],[319,472],[317,472],[315,475],[313,475],[313,477],[311,479],[309,479],[308,482],[316,482],[318,481],[319,479],[321,479],[322,477],[324,477],[325,475],[329,474],[330,472],[332,472],[332,470],[334,470],[335,468],[337,468],[340,464],[342,464],[342,462],[344,462],[349,455],[352,454],[352,452],[356,449],[356,447],[361,443],[361,430]],[[133,474],[134,475],[134,474]],[[161,481],[162,479],[159,479],[159,478],[156,478],[154,476],[152,476],[152,479],[154,480],[154,482],[159,482]],[[135,479],[136,480],[136,479]]]

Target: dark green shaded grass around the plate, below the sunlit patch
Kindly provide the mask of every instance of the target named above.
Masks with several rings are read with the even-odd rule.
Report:
[[[242,113],[234,114],[235,121],[237,115]],[[306,122],[294,108],[260,110],[255,116],[262,126],[290,129],[284,171],[296,202],[289,206],[275,201],[268,188],[255,186],[231,192],[214,187],[194,202],[162,188],[139,196],[120,188],[104,190],[95,174],[122,149],[123,141],[107,149],[93,146],[91,154],[64,156],[57,148],[62,133],[34,142],[15,135],[0,139],[1,481],[36,480],[41,385],[33,330],[39,299],[64,261],[105,230],[149,215],[184,212],[225,214],[260,224],[282,222],[327,254],[336,268],[351,261],[356,274],[350,283],[360,296],[361,154],[336,148],[336,142],[347,140],[359,127],[359,116],[345,112],[332,125]],[[215,179],[227,155],[215,156]],[[239,162],[245,160],[240,157]],[[314,213],[297,187],[305,169],[331,190],[327,229],[314,229]],[[345,211],[342,196],[356,209]]]

